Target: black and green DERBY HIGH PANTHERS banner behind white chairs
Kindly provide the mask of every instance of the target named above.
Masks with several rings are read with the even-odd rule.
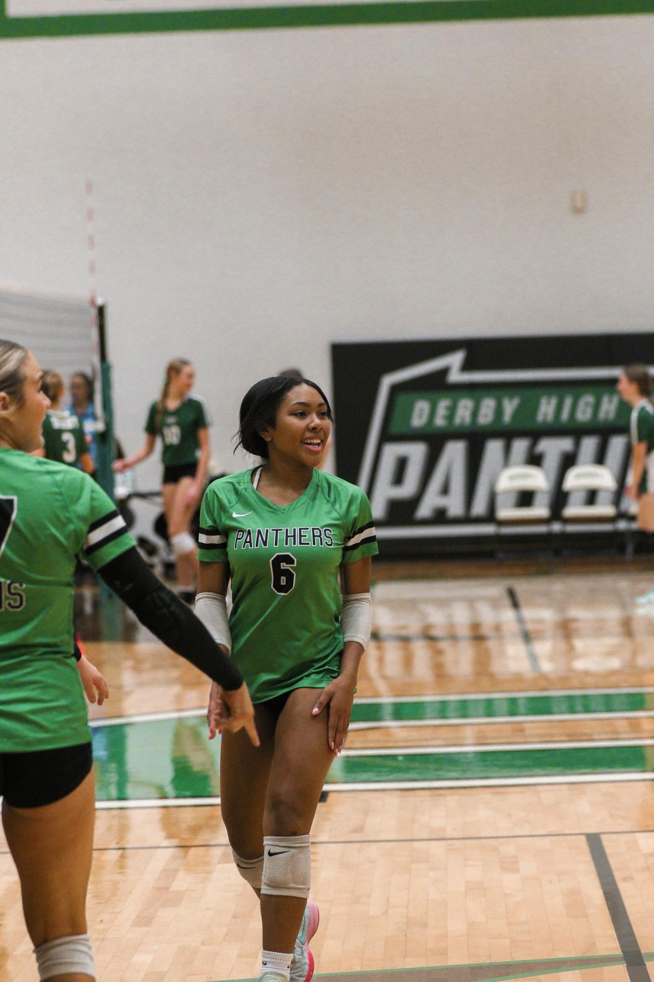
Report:
[[[536,503],[557,519],[569,497],[591,500],[563,493],[573,464],[607,464],[624,485],[629,407],[615,387],[632,361],[654,362],[654,335],[332,345],[337,473],[369,495],[386,551],[492,535],[512,464],[544,468]]]

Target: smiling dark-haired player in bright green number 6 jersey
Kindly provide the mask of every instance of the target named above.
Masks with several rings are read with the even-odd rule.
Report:
[[[261,737],[253,752],[223,736],[221,803],[234,862],[261,901],[265,982],[313,974],[309,833],[371,632],[375,528],[366,495],[318,468],[330,419],[315,383],[258,382],[241,404],[239,442],[266,463],[210,484],[200,518],[196,613],[232,650]],[[210,737],[220,711],[214,685]]]

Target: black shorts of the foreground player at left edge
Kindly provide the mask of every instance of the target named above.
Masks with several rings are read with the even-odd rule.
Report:
[[[0,794],[14,808],[40,808],[75,791],[92,766],[90,743],[0,753]]]

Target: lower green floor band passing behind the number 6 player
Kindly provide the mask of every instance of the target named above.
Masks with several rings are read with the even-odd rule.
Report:
[[[635,780],[654,771],[649,740],[528,743],[490,748],[427,747],[349,751],[334,760],[326,791],[425,782]],[[648,745],[649,744],[649,745]],[[95,727],[99,801],[206,799],[220,795],[220,739],[207,739],[202,718]]]

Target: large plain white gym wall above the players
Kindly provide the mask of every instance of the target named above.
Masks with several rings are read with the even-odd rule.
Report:
[[[328,390],[332,340],[645,330],[652,50],[654,17],[2,41],[0,283],[88,291],[92,178],[117,433],[185,355],[226,469],[248,386]]]

